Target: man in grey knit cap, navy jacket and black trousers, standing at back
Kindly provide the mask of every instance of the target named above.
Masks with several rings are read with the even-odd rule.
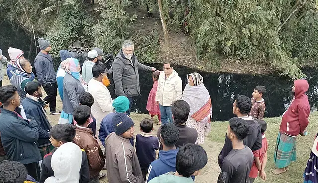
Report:
[[[51,43],[48,40],[39,38],[40,52],[34,59],[35,72],[38,81],[43,86],[47,96],[43,99],[46,104],[50,103],[50,115],[59,114],[56,110],[57,83],[56,74],[53,67],[51,51]]]

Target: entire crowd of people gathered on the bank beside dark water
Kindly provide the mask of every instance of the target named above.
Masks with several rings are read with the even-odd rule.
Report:
[[[212,104],[199,73],[182,80],[165,62],[163,71],[141,64],[134,43],[125,40],[111,68],[103,51],[94,48],[82,64],[67,50],[54,70],[51,43],[39,38],[35,73],[23,51],[9,48],[7,75],[11,85],[0,87],[0,183],[193,183],[208,162],[204,144],[211,131]],[[0,50],[0,68],[7,58]],[[147,101],[150,118],[130,118],[132,103],[140,95],[139,71],[152,73],[154,81]],[[108,90],[113,74],[116,98]],[[37,77],[37,80],[35,80]],[[304,136],[310,106],[306,80],[295,80],[293,100],[282,116],[277,137],[274,174],[289,170],[296,161],[296,136]],[[43,91],[47,96],[42,99]],[[59,92],[62,111],[56,108]],[[268,142],[265,86],[256,86],[252,99],[236,97],[224,146],[218,156],[218,183],[253,183],[266,180]],[[50,115],[59,114],[52,126]],[[159,129],[154,134],[154,117]],[[134,140],[135,139],[135,140]],[[135,142],[135,143],[134,143]],[[315,139],[304,171],[304,183],[318,183]],[[156,158],[156,151],[159,150]],[[107,170],[107,174],[105,171]]]

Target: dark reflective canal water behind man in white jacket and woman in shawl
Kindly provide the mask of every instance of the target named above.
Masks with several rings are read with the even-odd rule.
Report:
[[[162,64],[150,65],[162,70]],[[186,75],[198,72],[203,76],[203,83],[208,89],[212,99],[213,121],[225,121],[234,117],[232,113],[233,102],[237,95],[243,94],[252,97],[254,87],[266,86],[267,93],[264,94],[266,103],[265,117],[276,117],[283,114],[287,109],[292,97],[290,95],[292,81],[287,77],[278,75],[249,75],[233,73],[208,73],[200,72],[184,66],[175,66],[182,79],[183,87],[186,85]],[[308,76],[309,91],[307,92],[312,110],[318,107],[318,71],[315,68],[305,68],[303,72]],[[148,94],[153,86],[151,72],[140,72],[141,96],[134,101],[133,110],[139,113],[148,113],[146,104]],[[115,97],[113,82],[109,87],[113,98]]]

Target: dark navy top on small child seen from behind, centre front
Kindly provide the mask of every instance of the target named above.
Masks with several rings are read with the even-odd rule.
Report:
[[[156,150],[159,149],[158,138],[137,134],[135,147],[141,171],[147,171],[150,163],[156,160]]]

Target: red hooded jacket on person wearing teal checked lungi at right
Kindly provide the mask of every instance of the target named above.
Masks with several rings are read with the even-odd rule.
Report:
[[[305,92],[308,90],[307,80],[295,80],[295,97],[282,116],[279,131],[290,136],[303,133],[309,121],[310,106]]]

